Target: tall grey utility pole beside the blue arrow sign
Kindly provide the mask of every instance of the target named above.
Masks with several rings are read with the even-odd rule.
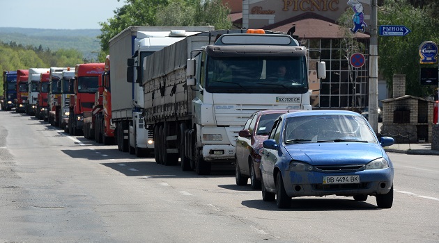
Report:
[[[371,0],[371,42],[369,45],[369,123],[378,133],[378,14],[377,0]]]

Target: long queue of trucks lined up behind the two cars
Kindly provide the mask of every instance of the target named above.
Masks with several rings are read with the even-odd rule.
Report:
[[[236,137],[252,113],[311,110],[308,55],[290,35],[272,31],[131,26],[109,41],[105,63],[3,72],[3,80],[16,79],[16,98],[6,94],[17,112],[210,174],[213,164],[235,162]],[[293,69],[297,83],[270,79],[279,65]],[[325,62],[316,68],[324,78]]]

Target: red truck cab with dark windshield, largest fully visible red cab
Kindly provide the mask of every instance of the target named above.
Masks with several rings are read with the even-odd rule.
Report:
[[[84,125],[84,112],[91,112],[98,92],[98,76],[105,63],[78,64],[75,68],[75,94],[70,96],[69,133],[79,135]]]

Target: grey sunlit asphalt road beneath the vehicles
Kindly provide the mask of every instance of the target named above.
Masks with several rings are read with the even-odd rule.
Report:
[[[389,153],[394,204],[327,196],[291,208],[0,111],[0,242],[439,242],[439,159]]]

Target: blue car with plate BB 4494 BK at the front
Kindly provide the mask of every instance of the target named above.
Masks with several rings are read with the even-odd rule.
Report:
[[[376,196],[378,208],[391,208],[394,167],[383,146],[392,144],[357,112],[286,113],[263,142],[262,199],[289,208],[297,196]]]

